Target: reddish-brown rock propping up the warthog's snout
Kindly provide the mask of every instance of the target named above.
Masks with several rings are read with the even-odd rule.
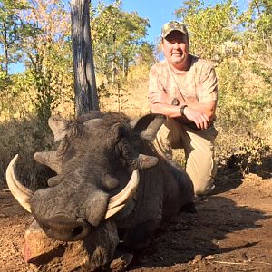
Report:
[[[43,271],[93,271],[109,265],[118,243],[117,229],[111,220],[76,242],[48,238],[34,221],[25,232],[22,251],[25,262],[43,267]]]

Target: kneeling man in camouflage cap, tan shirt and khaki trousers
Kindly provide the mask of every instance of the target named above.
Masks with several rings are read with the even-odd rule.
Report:
[[[168,117],[154,141],[161,155],[171,159],[172,148],[183,148],[186,171],[197,196],[214,189],[214,128],[218,99],[217,77],[211,63],[189,54],[189,35],[180,22],[164,24],[161,44],[165,60],[151,67],[151,112]]]

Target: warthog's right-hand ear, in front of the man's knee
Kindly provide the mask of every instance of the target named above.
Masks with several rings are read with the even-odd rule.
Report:
[[[165,120],[165,115],[151,113],[131,121],[131,128],[140,133],[142,139],[152,141]]]

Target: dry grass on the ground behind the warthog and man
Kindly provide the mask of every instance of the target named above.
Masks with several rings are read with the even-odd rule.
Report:
[[[127,81],[106,85],[106,95],[102,95],[100,98],[101,110],[125,112],[131,118],[138,118],[149,112],[147,100],[148,72],[147,67],[137,66],[131,70]],[[252,88],[253,86],[257,88],[256,83],[247,83],[247,86],[248,90],[249,87]],[[258,86],[263,88],[263,85],[258,84]],[[257,91],[260,92],[260,90]],[[251,92],[250,95],[254,95],[254,93]],[[4,94],[2,93],[2,95]],[[69,95],[72,96],[72,93]],[[16,153],[22,158],[18,174],[24,183],[34,187],[37,184],[41,186],[46,180],[46,170],[34,161],[33,155],[36,151],[50,150],[53,144],[53,135],[47,125],[37,121],[34,117],[34,107],[30,96],[31,93],[25,92],[17,93],[15,96],[6,93],[5,100],[2,100],[1,105],[4,102],[5,105],[10,105],[9,107],[0,107],[0,185],[2,180],[4,187],[6,166]],[[61,97],[53,110],[53,114],[62,115],[67,119],[73,117],[74,106],[71,99]],[[248,150],[254,155],[258,155],[257,152],[267,148],[267,146],[270,146],[270,148],[272,146],[271,115],[270,118],[251,125],[248,125],[245,120],[236,120],[230,127],[226,126],[224,118],[219,116],[216,125],[219,130],[217,156],[223,158],[223,160],[228,160],[231,154],[238,152],[243,146],[251,145]],[[256,142],[248,138],[247,131],[253,135],[252,139],[258,137],[262,141],[256,146]],[[184,165],[183,151],[174,151],[174,160]]]

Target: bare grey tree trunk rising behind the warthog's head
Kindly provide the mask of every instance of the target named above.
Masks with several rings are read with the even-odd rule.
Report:
[[[99,110],[92,56],[90,0],[71,0],[76,114]]]

